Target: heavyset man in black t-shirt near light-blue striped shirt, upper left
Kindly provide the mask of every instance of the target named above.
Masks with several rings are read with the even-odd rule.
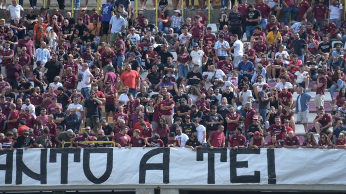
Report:
[[[54,54],[50,61],[45,63],[42,72],[47,72],[43,76],[43,81],[49,85],[54,82],[55,76],[62,77],[64,68],[63,65],[58,61],[58,55]]]

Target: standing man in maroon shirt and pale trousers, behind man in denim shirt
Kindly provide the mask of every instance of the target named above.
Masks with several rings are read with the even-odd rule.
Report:
[[[318,76],[316,80],[316,96],[315,96],[315,107],[316,109],[323,109],[323,104],[324,104],[324,89],[327,84],[327,78],[325,77],[325,70],[323,69],[318,69]]]

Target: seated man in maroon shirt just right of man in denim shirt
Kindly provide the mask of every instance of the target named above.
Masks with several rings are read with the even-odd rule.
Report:
[[[318,115],[313,120],[315,130],[318,134],[325,133],[327,131],[333,131],[333,119],[332,115],[325,113],[323,108],[318,109]]]

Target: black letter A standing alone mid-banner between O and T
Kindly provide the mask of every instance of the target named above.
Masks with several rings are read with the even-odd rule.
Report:
[[[163,154],[162,163],[147,163],[149,159],[158,154]],[[147,170],[162,170],[163,183],[170,183],[170,148],[156,148],[143,155],[139,162],[139,184],[145,183]]]

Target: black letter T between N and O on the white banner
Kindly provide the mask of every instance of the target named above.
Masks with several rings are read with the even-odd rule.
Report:
[[[49,150],[49,162],[56,162],[56,155],[61,154],[61,166],[60,166],[60,184],[67,184],[67,175],[69,171],[69,154],[73,154],[73,162],[81,162],[81,149],[50,149]]]

